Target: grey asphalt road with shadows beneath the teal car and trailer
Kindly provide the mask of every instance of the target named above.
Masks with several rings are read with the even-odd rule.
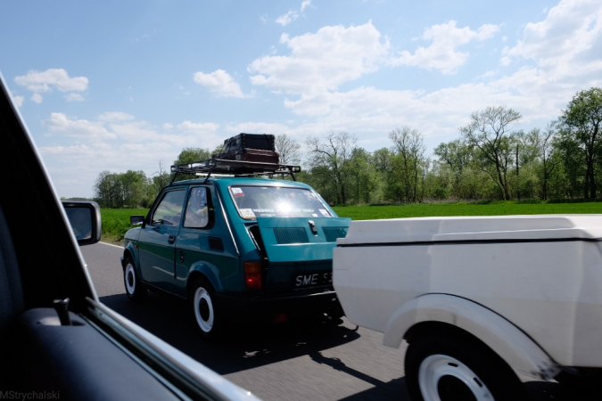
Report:
[[[409,400],[400,349],[383,335],[347,321],[340,326],[285,323],[241,325],[217,344],[201,340],[184,302],[151,292],[141,304],[128,300],[121,248],[82,247],[88,271],[108,307],[265,400]],[[525,379],[526,380],[526,379]],[[525,383],[534,401],[588,399],[556,382]],[[599,398],[591,398],[599,399]]]

